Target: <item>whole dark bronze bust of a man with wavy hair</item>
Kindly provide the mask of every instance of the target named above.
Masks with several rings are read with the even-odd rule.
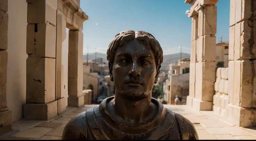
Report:
[[[107,50],[115,96],[77,115],[62,140],[198,140],[193,124],[151,98],[163,61],[153,35],[118,33]]]

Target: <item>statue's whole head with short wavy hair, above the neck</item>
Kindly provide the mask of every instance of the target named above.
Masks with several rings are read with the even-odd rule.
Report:
[[[127,30],[115,35],[107,49],[110,80],[121,96],[138,101],[157,83],[163,51],[153,35]]]

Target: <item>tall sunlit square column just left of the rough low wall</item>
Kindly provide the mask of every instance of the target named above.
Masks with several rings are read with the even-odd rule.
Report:
[[[196,110],[211,110],[216,71],[216,24],[217,7],[213,1],[200,1],[198,11],[197,63],[195,63],[195,98],[192,107]]]

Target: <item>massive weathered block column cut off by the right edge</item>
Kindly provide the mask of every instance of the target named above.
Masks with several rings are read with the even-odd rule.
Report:
[[[230,2],[230,40],[226,118],[233,124],[256,126],[256,1]]]

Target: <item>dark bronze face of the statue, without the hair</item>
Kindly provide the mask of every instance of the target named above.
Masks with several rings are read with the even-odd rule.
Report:
[[[123,96],[133,100],[147,96],[157,75],[153,51],[137,40],[126,43],[115,52],[112,75]]]

